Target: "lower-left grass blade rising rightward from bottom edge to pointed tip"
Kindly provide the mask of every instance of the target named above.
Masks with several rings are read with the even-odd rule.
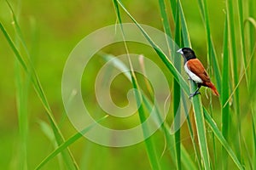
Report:
[[[38,167],[36,167],[36,169],[42,168],[48,161],[52,160],[55,156],[57,156],[59,153],[61,153],[61,151],[66,150],[67,147],[70,144],[73,144],[75,141],[77,141],[78,139],[83,137],[83,135],[85,133],[87,133],[91,128],[96,126],[97,123],[102,122],[103,120],[105,120],[107,117],[108,117],[108,115],[103,116],[102,118],[100,118],[96,122],[90,124],[88,127],[85,127],[81,132],[74,134],[70,139],[67,139],[67,141],[60,144],[53,152],[51,152],[49,154],[49,156],[44,158],[44,161],[42,161],[41,163],[38,164]]]

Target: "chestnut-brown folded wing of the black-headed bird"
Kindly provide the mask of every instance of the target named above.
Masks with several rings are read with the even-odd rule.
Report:
[[[189,59],[187,66],[189,70],[200,77],[203,82],[210,82],[210,77],[199,59]]]

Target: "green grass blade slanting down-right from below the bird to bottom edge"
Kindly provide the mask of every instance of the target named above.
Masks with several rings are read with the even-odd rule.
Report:
[[[231,149],[230,144],[228,144],[228,142],[224,139],[224,136],[218,130],[218,127],[217,127],[216,123],[212,120],[212,117],[209,116],[209,114],[207,113],[206,109],[204,109],[204,117],[205,117],[207,123],[209,124],[209,127],[211,127],[212,132],[215,134],[215,136],[217,137],[218,141],[224,146],[225,150],[227,150],[227,152],[229,153],[230,157],[235,162],[236,166],[239,169],[243,169],[243,167],[241,165],[241,162],[238,160],[238,158],[236,157],[236,154]]]

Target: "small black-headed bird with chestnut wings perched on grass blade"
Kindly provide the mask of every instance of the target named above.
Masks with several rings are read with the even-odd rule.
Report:
[[[196,58],[195,52],[191,48],[180,48],[177,53],[182,54],[184,59],[184,70],[189,75],[189,80],[192,80],[197,84],[197,88],[193,94],[189,95],[189,99],[196,94],[201,94],[199,89],[201,86],[211,88],[212,94],[219,96],[217,89],[211,82],[210,77],[207,74],[205,67],[201,64],[201,61]]]

